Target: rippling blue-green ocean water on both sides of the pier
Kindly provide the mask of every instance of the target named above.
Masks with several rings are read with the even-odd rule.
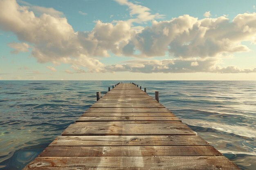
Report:
[[[21,170],[119,81],[0,81],[0,169]],[[256,169],[255,81],[122,81],[160,103],[243,170]]]

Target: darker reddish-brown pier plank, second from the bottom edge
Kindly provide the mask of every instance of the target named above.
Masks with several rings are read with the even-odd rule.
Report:
[[[48,146],[40,157],[220,156],[212,146]]]

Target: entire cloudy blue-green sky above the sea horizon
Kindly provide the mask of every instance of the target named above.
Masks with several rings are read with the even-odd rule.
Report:
[[[256,1],[0,0],[1,80],[256,80]]]

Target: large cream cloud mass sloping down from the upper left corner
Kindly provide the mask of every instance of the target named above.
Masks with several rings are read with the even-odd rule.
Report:
[[[118,27],[120,24],[116,25]],[[33,45],[31,54],[41,63],[60,64],[69,61],[70,64],[74,64],[79,60],[77,64],[88,66],[90,71],[95,67],[97,68],[95,71],[100,71],[99,67],[103,64],[85,55],[102,56],[107,55],[108,51],[104,46],[107,42],[101,45],[97,39],[93,38],[94,33],[74,32],[66,18],[45,13],[37,17],[33,11],[19,6],[15,0],[0,1],[0,28],[15,33],[19,40]],[[10,45],[14,47],[14,44]],[[25,51],[24,48],[21,50]]]

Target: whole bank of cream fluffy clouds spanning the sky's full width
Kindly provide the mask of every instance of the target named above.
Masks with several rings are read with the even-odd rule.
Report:
[[[219,56],[226,53],[249,51],[243,45],[244,41],[256,43],[256,13],[238,14],[232,21],[224,16],[199,20],[182,15],[157,22],[155,19],[162,15],[152,14],[147,7],[128,0],[115,1],[129,8],[131,19],[112,23],[97,21],[92,31],[75,32],[60,11],[31,4],[20,6],[16,0],[0,0],[0,29],[13,32],[23,42],[9,44],[15,50],[13,53],[31,48],[31,54],[38,62],[72,65],[73,71],[66,70],[66,73],[85,73],[85,70],[255,72],[255,69],[235,66],[220,68],[216,64]],[[35,11],[41,11],[40,15],[35,15]],[[147,21],[152,21],[151,26],[132,25]],[[174,59],[138,59],[106,66],[95,58],[107,57],[110,53],[144,59],[169,53]]]

